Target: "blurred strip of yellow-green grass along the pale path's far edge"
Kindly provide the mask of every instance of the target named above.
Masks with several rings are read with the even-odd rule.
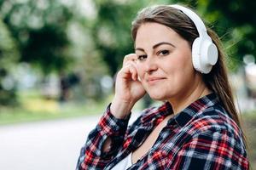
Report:
[[[102,114],[110,102],[105,99],[101,102],[86,100],[61,103],[55,99],[44,99],[36,91],[20,93],[19,100],[20,105],[17,107],[0,107],[0,125]]]

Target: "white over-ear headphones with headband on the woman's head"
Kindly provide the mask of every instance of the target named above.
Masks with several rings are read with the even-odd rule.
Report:
[[[189,8],[181,5],[170,5],[186,14],[195,24],[199,37],[195,38],[192,44],[192,63],[196,71],[207,74],[212,70],[218,60],[218,49],[207,34],[207,28],[201,18]]]

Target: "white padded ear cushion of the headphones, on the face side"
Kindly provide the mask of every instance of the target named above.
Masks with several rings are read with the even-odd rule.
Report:
[[[201,62],[200,62],[200,46],[201,46],[201,38],[195,38],[192,44],[192,64],[196,71],[201,71]]]

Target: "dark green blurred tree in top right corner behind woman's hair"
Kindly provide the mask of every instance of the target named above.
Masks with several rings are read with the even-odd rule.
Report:
[[[201,0],[197,8],[222,37],[231,70],[236,71],[242,65],[246,54],[256,59],[256,1]]]

